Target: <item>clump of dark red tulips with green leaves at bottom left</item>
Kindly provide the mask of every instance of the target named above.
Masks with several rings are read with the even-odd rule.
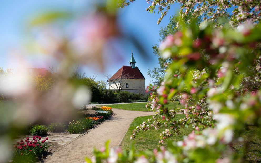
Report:
[[[48,145],[48,137],[41,140],[41,136],[29,137],[16,142],[13,150],[12,162],[35,162],[51,145]]]

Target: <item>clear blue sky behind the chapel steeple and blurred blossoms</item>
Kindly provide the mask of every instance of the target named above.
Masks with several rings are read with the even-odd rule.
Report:
[[[45,9],[77,10],[81,8],[82,2],[83,0],[75,0],[73,2],[64,0],[2,0],[0,6],[0,19],[2,22],[0,26],[0,67],[4,69],[15,68],[15,65],[7,64],[10,61],[8,50],[12,47],[22,45],[23,39],[25,39],[24,27],[29,17]],[[131,57],[131,51],[133,50],[133,55],[137,62],[136,66],[138,66],[143,73],[146,78],[145,84],[148,85],[151,80],[147,75],[148,68],[152,69],[158,66],[157,57],[154,56],[152,51],[152,45],[158,43],[160,27],[165,26],[169,22],[169,17],[175,14],[179,10],[179,7],[172,7],[160,25],[157,25],[157,20],[160,15],[148,13],[146,11],[147,7],[148,4],[145,0],[138,0],[130,6],[120,9],[118,23],[124,33],[134,35],[138,42],[143,45],[148,56],[144,57],[131,42],[123,41],[117,44],[122,56],[120,62],[108,63],[106,70],[103,72],[100,72],[92,66],[81,67],[81,71],[85,72],[88,76],[94,73],[98,74],[96,77],[97,80],[105,80],[103,77],[104,73],[114,74],[123,65],[129,65],[128,62]],[[36,64],[35,67],[40,68],[41,65]]]

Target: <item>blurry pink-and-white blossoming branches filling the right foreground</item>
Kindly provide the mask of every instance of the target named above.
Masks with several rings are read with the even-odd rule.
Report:
[[[238,29],[229,25],[217,29],[215,22],[208,22],[198,30],[195,24],[183,27],[160,45],[164,47],[161,53],[168,53],[175,62],[169,65],[160,87],[149,87],[152,96],[147,107],[156,115],[137,126],[131,136],[134,139],[140,131],[169,124],[160,134],[158,145],[162,147],[153,153],[134,149],[121,153],[107,147],[105,151],[94,150],[96,162],[115,157],[118,162],[260,161],[259,153],[248,151],[249,138],[244,139],[242,133],[261,127],[261,36],[257,34],[261,26],[248,22]],[[165,107],[175,96],[185,107],[178,110],[186,115],[179,120],[177,108]],[[163,147],[167,138],[189,125],[195,130],[183,141]],[[241,144],[240,151],[233,150],[235,143]]]

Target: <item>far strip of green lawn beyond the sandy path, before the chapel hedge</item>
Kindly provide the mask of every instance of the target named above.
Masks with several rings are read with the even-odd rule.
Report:
[[[184,108],[184,106],[178,104],[178,101],[169,103],[166,105],[169,109],[175,109],[176,108]],[[146,108],[147,103],[129,103],[129,104],[115,104],[115,105],[106,105],[111,108],[115,109],[122,109],[122,110],[131,110],[131,111],[150,111]]]

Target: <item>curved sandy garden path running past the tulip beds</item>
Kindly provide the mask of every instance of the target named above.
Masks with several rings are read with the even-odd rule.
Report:
[[[139,116],[154,115],[153,112],[112,109],[113,115],[88,133],[72,141],[62,149],[49,155],[44,162],[84,162],[92,156],[93,147],[101,149],[107,140],[110,147],[118,146],[133,119]]]

